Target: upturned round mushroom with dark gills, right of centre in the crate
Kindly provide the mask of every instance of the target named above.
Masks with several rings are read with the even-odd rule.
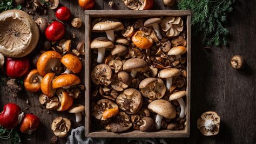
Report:
[[[139,84],[140,92],[149,99],[161,99],[164,97],[166,87],[164,81],[159,78],[145,78]]]

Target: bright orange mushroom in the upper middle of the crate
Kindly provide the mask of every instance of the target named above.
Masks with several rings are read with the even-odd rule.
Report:
[[[132,36],[132,42],[134,45],[136,45],[140,49],[149,49],[154,43],[152,38],[146,37],[145,32],[143,31],[137,31]]]

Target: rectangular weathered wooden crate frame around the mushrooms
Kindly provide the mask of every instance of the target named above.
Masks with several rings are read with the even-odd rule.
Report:
[[[158,132],[131,131],[112,133],[91,129],[91,19],[92,18],[149,18],[180,16],[186,19],[187,29],[187,125],[181,131],[161,130]],[[90,138],[185,138],[190,136],[190,80],[191,80],[191,11],[190,10],[85,10],[85,136]]]

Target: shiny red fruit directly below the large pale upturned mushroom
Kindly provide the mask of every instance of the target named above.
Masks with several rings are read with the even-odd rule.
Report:
[[[11,78],[19,78],[28,73],[30,67],[29,59],[23,58],[7,58],[6,74]]]

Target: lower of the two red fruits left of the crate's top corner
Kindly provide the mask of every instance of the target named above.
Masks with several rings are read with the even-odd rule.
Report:
[[[52,22],[45,30],[45,36],[50,41],[57,41],[65,34],[65,27],[60,22]]]

